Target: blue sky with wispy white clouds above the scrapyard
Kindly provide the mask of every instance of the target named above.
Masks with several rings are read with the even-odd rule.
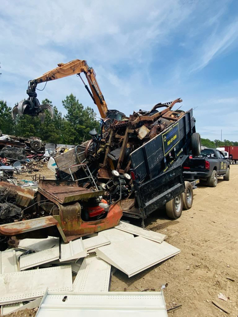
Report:
[[[195,108],[203,138],[220,139],[222,129],[238,141],[237,0],[1,2],[0,99],[8,106],[27,97],[28,80],[76,58],[96,71],[109,108],[128,115],[180,97],[182,109]],[[76,76],[48,83],[38,98],[64,113],[70,93],[97,111]]]

